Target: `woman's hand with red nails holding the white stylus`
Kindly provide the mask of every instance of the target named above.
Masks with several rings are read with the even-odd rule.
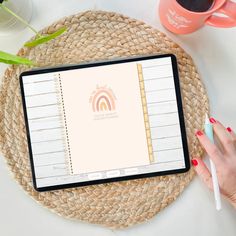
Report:
[[[202,131],[197,131],[196,136],[215,164],[221,194],[236,208],[236,134],[214,118],[210,118],[210,122],[219,145],[213,144]],[[213,190],[211,173],[205,163],[194,157],[192,164],[207,187]]]

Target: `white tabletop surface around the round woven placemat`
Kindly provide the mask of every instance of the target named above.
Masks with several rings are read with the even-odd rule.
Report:
[[[145,21],[165,32],[193,57],[207,88],[212,115],[236,130],[236,28],[206,26],[190,35],[173,35],[160,24],[157,3],[156,0],[33,0],[31,24],[41,29],[61,17],[85,10],[114,11]],[[1,37],[0,50],[16,53],[31,36],[25,29]],[[0,75],[5,68],[0,64]],[[235,236],[236,210],[223,201],[223,210],[216,212],[212,193],[195,178],[173,204],[151,221],[125,230],[109,230],[66,220],[37,204],[13,180],[1,156],[0,235]]]

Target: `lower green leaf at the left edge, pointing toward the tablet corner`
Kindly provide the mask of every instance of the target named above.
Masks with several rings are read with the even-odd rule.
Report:
[[[6,64],[16,64],[16,65],[19,64],[34,65],[34,62],[32,62],[27,58],[15,56],[3,51],[0,51],[0,63],[1,62]]]

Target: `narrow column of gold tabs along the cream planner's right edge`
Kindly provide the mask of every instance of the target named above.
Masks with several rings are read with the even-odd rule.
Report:
[[[141,100],[142,100],[142,106],[143,106],[143,117],[144,117],[144,124],[145,124],[145,130],[146,130],[149,161],[150,163],[153,163],[154,162],[153,147],[152,147],[149,117],[147,113],[147,100],[146,100],[145,86],[144,86],[144,80],[143,80],[142,65],[137,64],[137,69],[138,69],[138,77],[139,77],[140,94],[141,94]]]

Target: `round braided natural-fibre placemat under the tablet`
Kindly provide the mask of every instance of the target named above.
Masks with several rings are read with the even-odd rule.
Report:
[[[201,129],[208,99],[189,55],[150,26],[116,13],[85,12],[42,30],[51,33],[62,26],[68,31],[33,49],[22,48],[39,66],[143,54],[173,53],[177,56],[190,155],[202,155],[194,135]],[[0,92],[0,148],[11,172],[23,189],[53,212],[72,219],[124,228],[152,218],[173,202],[194,176],[188,173],[38,193],[32,187],[25,125],[19,90],[19,74],[26,66],[10,66]]]

